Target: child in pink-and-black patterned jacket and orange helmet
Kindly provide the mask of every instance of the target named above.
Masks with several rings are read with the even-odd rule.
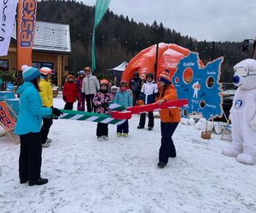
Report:
[[[113,96],[108,92],[108,80],[102,79],[100,82],[100,91],[94,95],[93,104],[96,107],[96,113],[109,114],[109,102]],[[98,123],[96,129],[98,141],[108,140],[108,124]]]

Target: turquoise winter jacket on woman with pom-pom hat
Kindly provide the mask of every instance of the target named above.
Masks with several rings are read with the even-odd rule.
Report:
[[[38,90],[30,82],[23,83],[17,93],[20,94],[20,112],[16,122],[15,134],[40,132],[42,117],[50,115],[51,108],[43,107]]]

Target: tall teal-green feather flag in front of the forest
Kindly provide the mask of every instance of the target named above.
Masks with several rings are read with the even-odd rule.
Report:
[[[110,0],[97,0],[94,14],[94,26],[91,40],[91,71],[94,72],[96,68],[95,60],[95,29],[102,20],[103,15],[108,9]]]

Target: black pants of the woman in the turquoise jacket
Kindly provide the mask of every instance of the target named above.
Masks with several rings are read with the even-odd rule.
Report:
[[[41,177],[42,164],[41,134],[28,133],[20,135],[20,180],[38,180]]]

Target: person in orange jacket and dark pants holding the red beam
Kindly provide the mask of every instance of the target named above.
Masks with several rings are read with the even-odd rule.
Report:
[[[177,100],[177,91],[174,88],[168,70],[160,73],[158,78],[159,91],[156,95],[157,103],[160,105],[165,101]],[[159,168],[164,168],[168,158],[176,157],[176,149],[172,141],[172,135],[181,119],[180,109],[160,110],[161,146],[159,152]]]

